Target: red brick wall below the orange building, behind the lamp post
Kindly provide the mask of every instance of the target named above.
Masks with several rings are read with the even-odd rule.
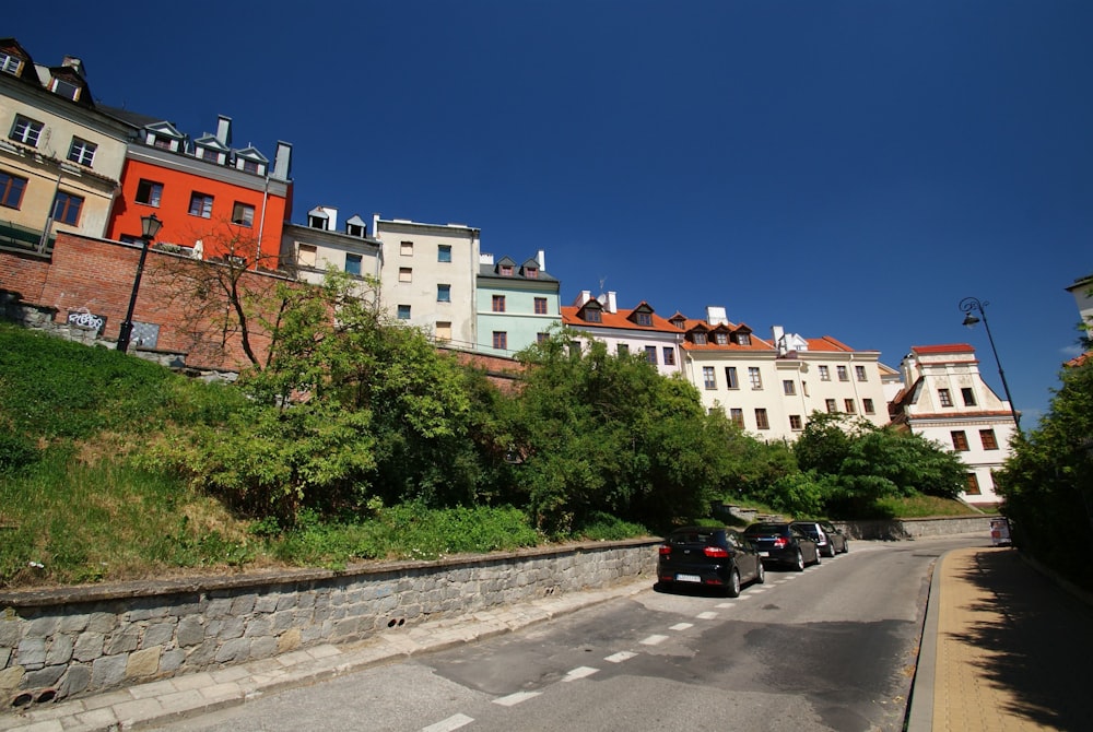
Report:
[[[30,259],[0,250],[0,288],[20,293],[34,305],[57,308],[63,320],[71,310],[86,310],[106,316],[103,337],[117,339],[126,318],[133,278],[140,260],[140,247],[59,234],[52,262]],[[237,333],[225,331],[214,314],[196,314],[191,298],[184,295],[169,272],[193,260],[152,249],[148,252],[133,320],[160,326],[156,347],[187,354],[188,366],[239,370],[249,361]],[[278,280],[271,275],[247,272],[245,287],[270,287]],[[213,308],[223,312],[224,306]],[[254,347],[263,358],[268,340],[254,337]]]

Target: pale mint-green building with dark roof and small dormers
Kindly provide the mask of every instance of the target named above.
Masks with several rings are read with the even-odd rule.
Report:
[[[561,284],[546,272],[545,255],[518,264],[482,255],[475,285],[477,351],[512,356],[562,322]]]

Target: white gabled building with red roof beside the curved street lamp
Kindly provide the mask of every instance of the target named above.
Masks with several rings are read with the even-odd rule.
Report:
[[[892,402],[893,423],[954,450],[967,465],[962,498],[994,507],[994,472],[1010,454],[1016,423],[979,375],[975,349],[967,343],[917,345],[901,364],[904,390]]]

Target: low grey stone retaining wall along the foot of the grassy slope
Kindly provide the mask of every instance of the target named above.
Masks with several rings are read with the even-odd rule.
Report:
[[[0,592],[0,710],[656,576],[653,540]],[[30,696],[27,696],[30,695]]]

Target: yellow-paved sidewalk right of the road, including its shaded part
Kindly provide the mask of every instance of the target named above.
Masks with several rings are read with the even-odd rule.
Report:
[[[935,569],[908,732],[1093,728],[1093,605],[1016,550]]]

